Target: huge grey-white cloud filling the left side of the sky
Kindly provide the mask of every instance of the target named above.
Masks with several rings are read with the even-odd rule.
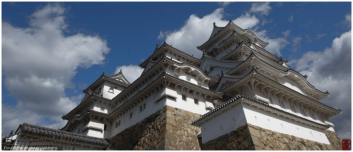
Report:
[[[65,7],[59,3],[38,9],[27,28],[2,22],[2,83],[16,103],[2,104],[2,132],[28,122],[53,128],[66,123],[60,117],[80,102],[65,89],[77,68],[104,63],[107,42],[98,35],[64,35],[70,31]]]

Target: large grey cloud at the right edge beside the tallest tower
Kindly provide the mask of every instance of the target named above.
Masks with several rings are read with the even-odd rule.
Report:
[[[290,63],[295,70],[308,76],[307,80],[317,89],[330,92],[320,102],[342,109],[342,114],[330,118],[342,139],[351,139],[351,57],[352,32],[343,33],[323,51],[309,51]]]

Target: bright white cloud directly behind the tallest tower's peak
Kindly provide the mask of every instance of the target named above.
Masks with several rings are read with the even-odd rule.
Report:
[[[224,15],[223,8],[217,8],[213,13],[207,14],[203,18],[192,14],[185,24],[179,30],[160,32],[160,37],[166,37],[168,44],[173,44],[173,47],[180,49],[195,57],[201,57],[202,51],[198,50],[196,46],[203,44],[208,40],[213,30],[213,22],[217,26],[225,26],[229,21],[222,20]],[[243,29],[252,28],[259,23],[255,16],[245,13],[234,19],[233,22]]]

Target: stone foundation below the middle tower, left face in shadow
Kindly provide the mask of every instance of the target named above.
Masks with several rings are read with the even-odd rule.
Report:
[[[200,117],[166,105],[155,114],[108,140],[111,150],[201,150],[200,127],[190,123]]]

